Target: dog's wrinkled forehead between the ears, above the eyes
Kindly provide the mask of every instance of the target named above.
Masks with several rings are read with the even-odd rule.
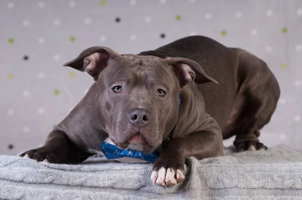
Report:
[[[167,84],[173,82],[176,75],[171,65],[155,56],[122,55],[108,66],[110,76],[104,78],[113,84],[116,81],[131,81],[134,84],[156,82]],[[106,73],[108,74],[108,73]]]

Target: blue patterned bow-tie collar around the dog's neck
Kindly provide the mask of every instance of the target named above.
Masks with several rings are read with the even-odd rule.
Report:
[[[178,94],[179,98],[179,109],[180,111],[180,103],[181,103],[181,96]],[[174,127],[175,128],[175,127]],[[174,130],[173,128],[173,130]],[[107,159],[117,159],[117,158],[123,158],[123,157],[131,157],[131,158],[137,158],[140,160],[145,160],[148,162],[155,162],[158,157],[160,156],[160,152],[155,150],[154,152],[150,154],[145,154],[142,151],[135,151],[132,149],[120,149],[117,146],[113,144],[109,144],[107,142],[102,142],[100,145],[100,150],[103,152],[104,156]]]

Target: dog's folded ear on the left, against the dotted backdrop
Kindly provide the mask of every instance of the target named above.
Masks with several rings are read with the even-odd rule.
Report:
[[[108,65],[109,58],[116,55],[118,55],[116,52],[107,47],[90,47],[63,66],[69,66],[79,71],[87,71],[97,81],[100,72]]]

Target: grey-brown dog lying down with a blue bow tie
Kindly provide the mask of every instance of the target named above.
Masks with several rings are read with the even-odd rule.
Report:
[[[245,50],[190,36],[137,55],[91,47],[64,66],[95,83],[45,144],[22,157],[78,163],[105,149],[105,140],[115,152],[136,146],[129,157],[159,150],[150,178],[171,187],[184,180],[188,157],[222,156],[223,139],[236,135],[239,152],[267,149],[258,137],[280,88],[266,63]]]

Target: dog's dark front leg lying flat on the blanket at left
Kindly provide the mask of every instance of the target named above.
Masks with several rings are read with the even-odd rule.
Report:
[[[64,132],[54,130],[49,134],[42,147],[26,151],[20,156],[32,158],[38,162],[79,163],[90,155],[92,154],[75,147]]]

